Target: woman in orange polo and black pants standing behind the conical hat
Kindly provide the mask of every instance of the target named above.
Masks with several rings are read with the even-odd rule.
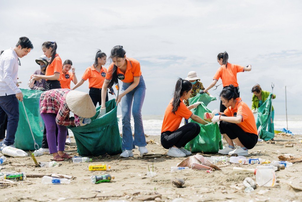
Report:
[[[88,67],[84,72],[82,79],[72,88],[72,90],[78,88],[87,79],[89,82],[89,96],[92,99],[93,104],[96,106],[98,103],[101,105],[102,95],[101,90],[107,73],[107,69],[103,67],[106,64],[107,56],[101,50],[95,55],[95,62],[92,66]],[[103,95],[108,101],[108,93],[106,88],[106,94]]]

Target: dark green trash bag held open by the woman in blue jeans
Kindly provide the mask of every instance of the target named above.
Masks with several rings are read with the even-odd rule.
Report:
[[[106,114],[97,119],[101,106],[91,123],[85,126],[68,126],[76,139],[79,155],[102,156],[122,153],[120,130],[118,129],[117,106],[115,99],[106,102]]]

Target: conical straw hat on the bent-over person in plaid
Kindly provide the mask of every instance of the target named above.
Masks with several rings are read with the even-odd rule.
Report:
[[[66,95],[66,104],[70,111],[82,118],[91,118],[96,114],[95,106],[87,93],[69,91]]]

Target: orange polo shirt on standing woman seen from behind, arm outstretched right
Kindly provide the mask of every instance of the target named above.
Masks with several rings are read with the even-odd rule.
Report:
[[[223,87],[233,85],[234,87],[238,87],[237,83],[237,73],[244,72],[244,66],[234,65],[231,63],[227,63],[227,68],[225,65],[222,65],[217,70],[214,75],[213,80],[219,80],[221,78]]]

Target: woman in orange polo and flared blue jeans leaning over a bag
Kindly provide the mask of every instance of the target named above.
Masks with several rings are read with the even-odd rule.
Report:
[[[122,105],[123,152],[120,157],[133,156],[132,149],[135,149],[135,146],[138,146],[140,154],[146,154],[148,150],[146,148],[147,144],[141,114],[146,85],[140,70],[140,63],[136,59],[127,58],[123,46],[114,46],[109,58],[112,59],[112,64],[108,68],[102,88],[100,113],[101,115],[106,113],[105,98],[107,88],[118,84],[118,79],[120,79],[123,83],[122,93],[116,99],[116,104],[121,102]],[[134,118],[134,141],[130,125],[131,108]]]

